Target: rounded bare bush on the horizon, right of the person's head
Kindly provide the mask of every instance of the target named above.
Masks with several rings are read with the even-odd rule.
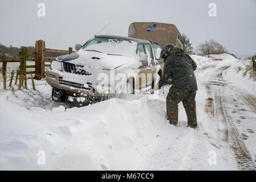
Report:
[[[204,56],[216,53],[227,53],[227,49],[215,40],[205,41],[197,46],[197,53]]]

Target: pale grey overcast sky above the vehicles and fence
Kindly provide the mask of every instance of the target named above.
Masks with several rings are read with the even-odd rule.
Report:
[[[216,3],[217,16],[208,15]],[[38,16],[38,3],[46,16]],[[222,43],[231,53],[256,53],[256,0],[0,0],[0,43],[68,49],[100,34],[128,36],[132,22],[173,23],[195,48],[205,40]]]

